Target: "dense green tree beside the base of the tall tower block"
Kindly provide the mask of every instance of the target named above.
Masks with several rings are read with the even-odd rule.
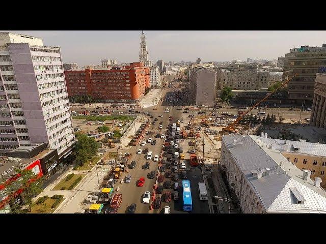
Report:
[[[97,153],[98,145],[94,140],[94,137],[88,137],[85,134],[76,134],[76,158],[75,163],[83,166],[87,161],[92,160],[92,158]]]

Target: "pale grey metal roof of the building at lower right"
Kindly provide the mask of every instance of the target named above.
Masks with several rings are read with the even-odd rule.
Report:
[[[263,139],[267,138],[255,135],[222,137],[266,211],[326,213],[326,191],[314,186],[312,179],[304,180],[303,172],[279,150],[270,149]],[[253,173],[258,170],[262,171],[261,178]],[[296,202],[293,192],[298,192],[304,202]]]

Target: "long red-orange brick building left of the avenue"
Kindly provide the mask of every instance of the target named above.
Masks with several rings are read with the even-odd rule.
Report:
[[[106,102],[138,102],[150,85],[149,68],[143,63],[111,69],[65,71],[68,96],[90,95]]]

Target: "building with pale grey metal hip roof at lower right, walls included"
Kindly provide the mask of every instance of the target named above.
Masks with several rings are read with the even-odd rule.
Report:
[[[222,136],[220,164],[233,201],[244,214],[326,213],[321,179],[312,180],[311,171],[282,155],[296,150],[293,145],[264,141],[264,136]]]

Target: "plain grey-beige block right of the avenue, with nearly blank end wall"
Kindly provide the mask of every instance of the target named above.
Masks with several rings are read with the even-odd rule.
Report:
[[[202,67],[191,70],[190,97],[196,105],[212,106],[216,99],[216,71]]]

